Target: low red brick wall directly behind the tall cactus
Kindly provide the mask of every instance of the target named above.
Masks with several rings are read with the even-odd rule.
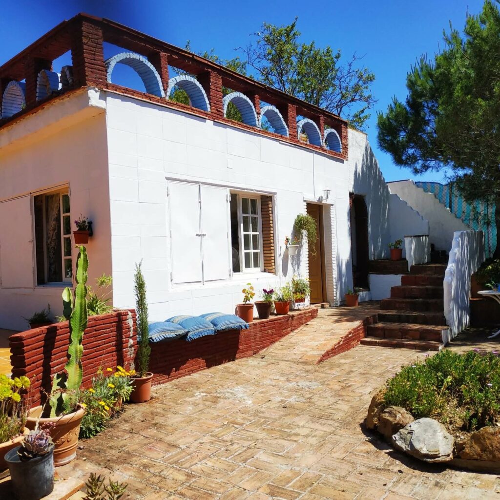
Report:
[[[130,366],[135,356],[134,310],[90,316],[83,335],[83,385],[88,387],[99,366]],[[31,405],[50,392],[52,376],[64,369],[69,345],[68,322],[15,333],[9,338],[12,375],[31,380]]]

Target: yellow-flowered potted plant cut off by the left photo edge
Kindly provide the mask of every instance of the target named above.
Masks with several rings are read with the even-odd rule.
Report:
[[[29,387],[25,376],[11,378],[0,374],[0,470],[6,468],[5,454],[27,434],[27,408],[21,392]]]

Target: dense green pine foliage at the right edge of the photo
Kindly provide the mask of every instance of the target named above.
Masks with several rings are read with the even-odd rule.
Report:
[[[433,60],[420,57],[406,78],[406,100],[393,97],[378,115],[377,138],[397,165],[414,173],[447,168],[466,200],[495,202],[500,234],[497,3],[486,0],[480,14],[467,15],[463,35],[450,26]]]

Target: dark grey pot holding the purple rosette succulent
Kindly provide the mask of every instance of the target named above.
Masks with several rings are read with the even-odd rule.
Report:
[[[39,500],[54,489],[54,447],[45,455],[26,461],[19,459],[19,448],[16,446],[5,455],[12,491],[17,500]]]

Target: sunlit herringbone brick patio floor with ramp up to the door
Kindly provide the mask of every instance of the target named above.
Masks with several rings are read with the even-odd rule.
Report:
[[[129,483],[127,498],[147,500],[500,498],[496,475],[423,464],[365,430],[371,395],[424,353],[357,346],[315,364],[301,340],[333,334],[341,317],[320,310],[251,358],[154,388],[151,401],[127,406],[58,472],[111,474]],[[461,338],[457,348],[484,336]]]

